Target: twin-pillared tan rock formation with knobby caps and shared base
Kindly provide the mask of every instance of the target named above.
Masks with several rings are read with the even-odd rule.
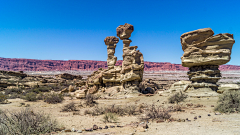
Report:
[[[138,92],[139,84],[143,78],[144,61],[143,55],[137,46],[130,46],[129,38],[133,32],[133,25],[125,24],[117,27],[117,36],[123,40],[123,62],[122,66],[116,66],[117,57],[114,56],[116,44],[119,39],[111,36],[106,37],[108,69],[100,68],[88,77],[88,93],[96,93],[101,88],[121,86],[122,90]]]

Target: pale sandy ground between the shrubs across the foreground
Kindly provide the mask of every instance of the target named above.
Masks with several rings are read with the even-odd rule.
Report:
[[[136,96],[127,99],[104,99],[97,100],[99,105],[125,105],[125,104],[161,104],[163,105],[166,102],[167,97],[154,95],[152,97],[144,97],[144,96]],[[113,134],[113,135],[240,135],[240,114],[221,114],[215,115],[213,112],[213,107],[211,105],[216,106],[217,97],[212,98],[187,98],[184,102],[182,102],[182,106],[186,107],[186,104],[201,104],[203,107],[193,108],[188,107],[185,112],[172,112],[172,118],[175,119],[186,119],[191,120],[190,122],[162,122],[156,123],[155,121],[149,121],[149,128],[147,131],[140,130],[139,128],[134,127],[115,127],[109,129],[96,130],[93,132],[76,133],[58,133],[60,135],[75,135],[75,134],[84,134],[84,135],[105,135],[105,134]],[[159,101],[158,101],[159,100]],[[66,127],[66,129],[77,129],[82,130],[84,128],[92,128],[94,124],[99,127],[105,127],[105,125],[120,125],[125,126],[126,124],[130,124],[131,122],[139,122],[139,116],[123,116],[119,117],[118,123],[107,123],[105,124],[101,119],[103,115],[100,116],[90,116],[84,115],[84,110],[88,108],[79,107],[78,111],[75,113],[79,113],[78,115],[73,115],[73,112],[60,112],[62,106],[68,104],[70,102],[76,103],[79,105],[83,100],[80,99],[70,99],[66,97],[62,103],[59,104],[47,104],[43,101],[38,102],[27,102],[22,99],[10,99],[10,104],[0,104],[0,108],[2,110],[8,111],[17,111],[26,107],[19,107],[20,103],[30,104],[31,109],[35,111],[43,111],[45,113],[49,113],[52,118],[56,118],[58,122]],[[171,104],[164,104],[169,106]],[[210,114],[211,116],[208,116]],[[195,116],[201,116],[201,118],[197,118],[194,120]],[[215,121],[214,121],[215,120]],[[140,121],[141,122],[141,121]]]

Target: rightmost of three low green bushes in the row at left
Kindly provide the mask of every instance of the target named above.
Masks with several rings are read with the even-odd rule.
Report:
[[[61,103],[64,100],[62,94],[48,93],[44,95],[43,101],[49,104]]]

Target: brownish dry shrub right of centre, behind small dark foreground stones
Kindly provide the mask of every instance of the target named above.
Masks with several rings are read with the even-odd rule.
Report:
[[[172,109],[170,108],[152,104],[144,111],[144,116],[140,120],[167,120],[171,118],[169,114],[171,111]]]

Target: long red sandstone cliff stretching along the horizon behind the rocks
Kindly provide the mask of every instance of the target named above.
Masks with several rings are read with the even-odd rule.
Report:
[[[121,65],[122,61],[117,61],[116,65]],[[145,71],[187,71],[188,68],[181,64],[171,64],[168,62],[145,62]],[[94,60],[36,60],[36,59],[10,59],[0,58],[0,70],[8,71],[52,71],[52,70],[97,70],[107,68],[106,61]],[[220,70],[240,70],[240,66],[221,65]]]

